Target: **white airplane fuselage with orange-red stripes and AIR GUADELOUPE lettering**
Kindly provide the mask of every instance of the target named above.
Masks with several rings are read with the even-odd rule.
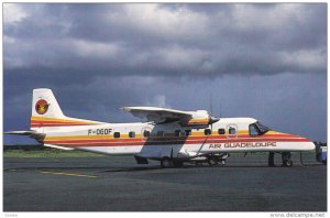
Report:
[[[222,118],[207,129],[184,128],[177,122],[153,124],[101,123],[43,128],[45,144],[113,155],[147,159],[194,156],[222,152],[306,151],[315,149],[308,139],[267,131],[253,131],[252,118]],[[40,130],[37,130],[40,131]]]

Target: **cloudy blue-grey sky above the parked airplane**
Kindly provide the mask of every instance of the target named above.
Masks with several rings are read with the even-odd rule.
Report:
[[[118,108],[209,109],[211,94],[224,117],[327,140],[326,3],[6,3],[3,61],[6,131],[48,87],[68,116],[136,121]]]

